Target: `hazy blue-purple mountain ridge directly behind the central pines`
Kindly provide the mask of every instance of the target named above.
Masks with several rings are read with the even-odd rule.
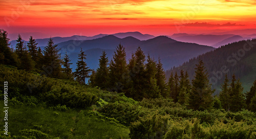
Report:
[[[65,54],[67,51],[71,55],[73,63],[77,61],[77,59],[74,59],[73,56],[80,52],[80,48],[82,48],[83,51],[86,51],[88,59],[92,59],[91,55],[93,57],[98,57],[94,59],[94,61],[88,62],[88,65],[95,69],[97,68],[96,63],[98,63],[102,50],[109,51],[110,53],[107,54],[109,59],[111,59],[114,50],[119,43],[121,43],[125,48],[127,60],[131,58],[132,53],[134,53],[138,47],[141,47],[146,55],[150,54],[152,57],[155,57],[155,59],[161,57],[164,69],[169,69],[175,65],[180,65],[189,60],[191,57],[196,57],[200,54],[214,50],[214,48],[206,45],[179,42],[166,36],[158,36],[153,39],[141,41],[134,37],[125,37],[121,39],[114,35],[93,40],[69,40],[58,43],[58,48],[61,49],[62,54]],[[90,51],[93,53],[89,53],[89,50],[91,49],[94,50]],[[74,65],[72,66],[74,67]]]

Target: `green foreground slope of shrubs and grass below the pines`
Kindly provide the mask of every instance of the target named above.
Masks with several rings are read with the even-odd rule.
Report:
[[[134,101],[123,93],[42,77],[2,64],[0,81],[8,81],[11,92],[11,130],[8,136],[5,131],[0,132],[1,138],[256,137],[254,112],[225,111],[218,101],[212,109],[204,111],[188,109],[168,98]],[[27,83],[36,84],[32,93]],[[3,108],[4,102],[0,102]],[[0,116],[4,114],[1,112]]]

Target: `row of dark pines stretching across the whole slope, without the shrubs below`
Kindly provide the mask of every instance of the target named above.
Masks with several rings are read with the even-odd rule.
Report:
[[[80,51],[77,67],[72,73],[71,60],[67,53],[60,58],[59,49],[52,38],[49,39],[44,50],[37,47],[35,39],[31,36],[27,45],[18,35],[14,49],[9,47],[7,32],[0,30],[0,61],[3,64],[13,65],[19,69],[40,73],[47,71],[49,77],[76,80],[86,84],[89,79],[90,86],[97,86],[104,90],[124,92],[127,97],[135,100],[143,98],[172,98],[174,102],[195,110],[224,108],[238,111],[248,108],[256,111],[256,81],[251,90],[245,95],[243,87],[236,76],[233,75],[231,83],[226,79],[218,97],[214,97],[214,90],[209,83],[209,75],[203,60],[196,64],[194,78],[189,80],[189,74],[183,70],[179,75],[171,73],[166,83],[165,72],[161,59],[155,60],[147,56],[140,47],[126,61],[123,45],[119,44],[111,60],[103,51],[96,71],[90,69],[86,63],[86,54]],[[90,75],[91,73],[91,75]]]

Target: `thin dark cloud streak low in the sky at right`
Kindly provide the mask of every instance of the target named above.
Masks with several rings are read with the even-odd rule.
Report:
[[[210,24],[207,22],[191,22],[184,24],[184,26],[190,26],[190,27],[231,27],[231,26],[245,26],[245,25],[237,25],[236,23],[231,24],[230,22],[227,22],[226,24]]]

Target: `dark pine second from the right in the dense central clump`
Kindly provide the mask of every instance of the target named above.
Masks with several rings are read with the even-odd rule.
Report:
[[[160,90],[157,85],[157,62],[150,55],[147,55],[147,63],[145,64],[145,98],[159,98]]]

